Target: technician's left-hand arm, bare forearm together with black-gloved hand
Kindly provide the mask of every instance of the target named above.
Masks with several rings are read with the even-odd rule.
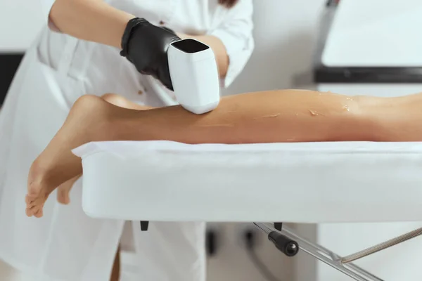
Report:
[[[102,0],[56,0],[49,18],[60,32],[122,49],[120,55],[141,74],[151,75],[173,89],[167,48],[180,39],[173,32],[119,11]]]

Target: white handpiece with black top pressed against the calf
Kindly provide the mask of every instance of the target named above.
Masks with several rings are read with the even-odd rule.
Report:
[[[212,49],[195,39],[170,44],[167,52],[174,96],[197,115],[219,104],[219,74]]]

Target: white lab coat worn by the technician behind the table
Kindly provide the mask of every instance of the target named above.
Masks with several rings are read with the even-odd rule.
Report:
[[[222,39],[230,58],[223,86],[231,84],[252,53],[252,0],[229,10],[217,0],[108,2],[176,32]],[[48,18],[53,0],[42,4]],[[84,214],[81,181],[72,189],[70,205],[58,204],[54,192],[43,218],[27,218],[27,173],[79,96],[119,93],[143,105],[172,103],[171,94],[160,89],[116,48],[53,32],[46,25],[27,51],[0,111],[0,259],[42,281],[108,280],[124,221]],[[133,229],[136,280],[205,280],[204,223],[151,222],[150,230],[141,233],[134,222]]]

